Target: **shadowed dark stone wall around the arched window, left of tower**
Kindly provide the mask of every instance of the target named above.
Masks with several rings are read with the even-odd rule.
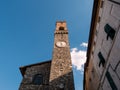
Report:
[[[49,85],[51,63],[44,63],[41,65],[30,66],[26,68],[22,83],[19,90],[42,90]],[[43,84],[34,85],[32,80],[36,74],[43,75]]]

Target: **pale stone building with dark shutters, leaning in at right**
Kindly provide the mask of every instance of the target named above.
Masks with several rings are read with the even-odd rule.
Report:
[[[84,90],[120,90],[120,0],[94,0]]]

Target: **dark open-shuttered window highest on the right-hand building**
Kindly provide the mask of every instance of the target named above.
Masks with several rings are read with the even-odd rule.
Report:
[[[109,24],[105,25],[104,30],[107,33],[107,40],[109,37],[113,40],[115,36],[115,30]]]

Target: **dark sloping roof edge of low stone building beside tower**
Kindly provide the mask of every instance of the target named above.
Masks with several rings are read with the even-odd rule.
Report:
[[[20,72],[21,72],[22,76],[24,76],[25,71],[26,71],[26,69],[27,69],[28,67],[32,67],[32,66],[36,66],[36,65],[42,65],[42,64],[45,64],[45,63],[51,63],[51,60],[49,60],[49,61],[44,61],[44,62],[39,62],[39,63],[35,63],[35,64],[30,64],[30,65],[26,65],[26,66],[22,66],[22,67],[20,67],[19,69],[20,69]]]

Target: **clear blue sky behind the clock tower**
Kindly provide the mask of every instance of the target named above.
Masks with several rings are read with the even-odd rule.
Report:
[[[0,0],[0,89],[17,90],[20,66],[52,58],[55,23],[65,20],[71,53],[86,52],[93,0]],[[79,59],[81,60],[81,59]],[[83,74],[73,64],[75,88]]]

